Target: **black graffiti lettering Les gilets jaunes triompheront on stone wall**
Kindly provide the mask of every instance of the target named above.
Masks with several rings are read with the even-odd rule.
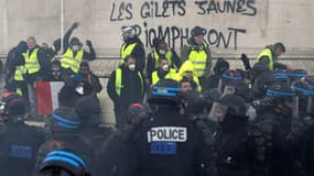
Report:
[[[133,8],[133,1],[112,2],[110,10],[110,22],[130,21],[138,16],[141,22],[134,24],[138,33],[143,40],[145,47],[152,47],[154,37],[164,37],[171,47],[182,47],[186,40],[191,37],[191,26],[178,25],[158,25],[151,26],[150,20],[182,18],[186,15],[195,15],[204,18],[204,15],[229,13],[235,15],[255,16],[258,13],[256,0],[194,0],[196,14],[187,11],[186,0],[163,0],[163,1],[143,1],[140,8]],[[190,2],[191,3],[191,2]],[[174,23],[177,23],[174,21]],[[197,24],[191,24],[197,25]],[[123,28],[123,26],[121,26]],[[205,38],[209,45],[223,48],[238,48],[238,41],[247,33],[247,29],[228,26],[224,30],[207,28]]]

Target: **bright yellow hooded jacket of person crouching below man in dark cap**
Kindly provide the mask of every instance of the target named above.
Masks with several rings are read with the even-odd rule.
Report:
[[[199,84],[198,77],[194,75],[194,66],[191,61],[184,62],[175,76],[175,80],[178,82],[184,79],[191,82],[192,89],[202,92],[202,86]]]

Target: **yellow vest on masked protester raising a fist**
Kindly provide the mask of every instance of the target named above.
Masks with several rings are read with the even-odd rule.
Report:
[[[62,68],[69,68],[75,74],[78,73],[79,64],[83,61],[84,50],[79,50],[74,57],[74,53],[71,48],[67,48],[65,54],[62,56],[61,66]]]

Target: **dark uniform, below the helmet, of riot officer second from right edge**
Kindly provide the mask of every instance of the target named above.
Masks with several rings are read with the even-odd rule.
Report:
[[[289,175],[292,143],[286,136],[291,131],[291,119],[266,107],[263,116],[257,117],[255,125],[266,140],[264,169],[269,172],[268,175]]]

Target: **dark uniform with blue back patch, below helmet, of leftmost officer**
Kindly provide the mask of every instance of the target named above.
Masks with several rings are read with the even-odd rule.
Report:
[[[32,175],[37,150],[44,142],[43,131],[23,121],[6,125],[6,131],[0,134],[1,175]]]

